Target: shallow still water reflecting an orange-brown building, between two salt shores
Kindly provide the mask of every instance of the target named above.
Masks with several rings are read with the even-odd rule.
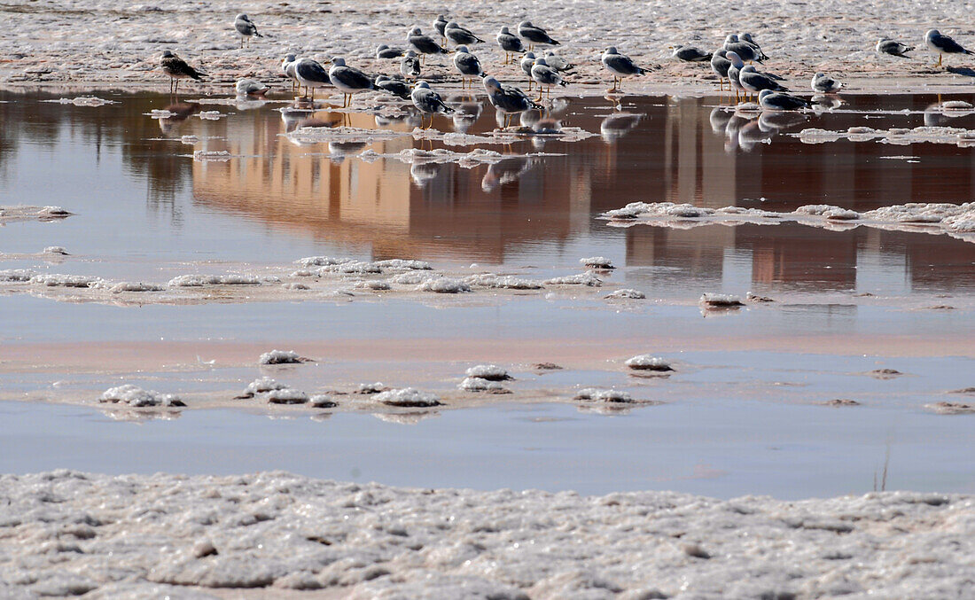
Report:
[[[953,392],[975,385],[975,244],[911,227],[684,228],[617,226],[603,218],[636,201],[775,212],[809,204],[865,212],[970,202],[973,152],[963,139],[901,145],[800,137],[811,129],[975,128],[975,115],[932,108],[935,96],[851,96],[832,110],[777,118],[735,114],[718,98],[634,97],[618,107],[599,98],[560,100],[549,114],[528,115],[526,125],[550,119],[591,137],[477,144],[462,136],[419,140],[410,135],[418,123],[409,115],[295,111],[284,101],[95,96],[114,103],[0,95],[0,206],[59,205],[73,213],[6,222],[0,269],[164,289],[111,294],[0,283],[0,399],[105,408],[97,402],[102,391],[135,383],[178,393],[188,406],[164,412],[170,420],[108,407],[121,411],[114,419],[145,423],[135,427],[90,409],[7,405],[12,422],[29,433],[4,436],[19,449],[9,453],[6,471],[61,465],[55,453],[28,449],[43,446],[45,423],[67,427],[59,423],[80,419],[88,423],[82,440],[114,435],[117,448],[137,445],[149,431],[164,446],[173,439],[188,440],[187,448],[218,443],[227,457],[223,472],[280,467],[352,478],[308,460],[276,462],[278,453],[294,449],[273,444],[277,450],[247,463],[241,449],[251,441],[231,426],[214,432],[215,421],[232,419],[254,440],[300,427],[308,448],[327,454],[353,452],[369,436],[396,435],[399,446],[391,452],[402,455],[436,435],[454,464],[486,460],[492,444],[511,443],[513,461],[544,465],[499,471],[494,479],[466,477],[458,466],[429,478],[430,464],[421,460],[380,468],[383,452],[370,448],[349,466],[365,478],[401,485],[825,496],[872,489],[888,448],[897,476],[891,485],[957,492],[975,485],[960,460],[945,460],[942,470],[930,466],[973,450],[962,434],[971,416],[940,414],[937,407],[972,402],[970,394]],[[941,101],[953,99],[964,100]],[[483,136],[497,127],[484,100],[452,101],[466,116],[438,117],[434,129]],[[152,112],[162,109],[173,116]],[[301,125],[342,119],[379,133],[372,140],[322,142],[314,141],[318,132],[288,135]],[[487,163],[399,158],[410,148],[458,154],[487,148],[502,156]],[[49,247],[68,254],[45,252]],[[303,257],[422,260],[448,278],[492,273],[539,282],[585,271],[579,260],[587,257],[604,257],[616,268],[597,273],[599,287],[475,287],[443,295],[413,284],[394,284],[388,293],[355,287],[385,273],[292,277],[300,268],[294,260]],[[167,288],[174,278],[199,273],[258,281],[178,294]],[[319,283],[329,277],[327,286]],[[302,281],[309,282],[307,295],[286,288]],[[620,289],[642,292],[645,300],[604,298]],[[750,292],[773,301],[746,300]],[[705,293],[737,295],[745,305],[708,310],[698,302]],[[315,362],[258,367],[258,355],[274,347]],[[635,377],[623,361],[643,353],[672,361],[676,371]],[[506,383],[510,395],[457,389],[467,368],[488,362],[514,375]],[[535,368],[544,362],[563,369]],[[884,369],[902,375],[872,375]],[[325,412],[234,398],[261,376],[308,393],[348,392],[371,381],[415,386],[437,393],[445,406],[404,428],[403,411],[346,406],[341,396]],[[622,407],[621,414],[613,410],[619,407],[572,400],[587,387],[623,390],[646,404]],[[829,404],[836,400],[858,405]],[[464,407],[478,408],[450,410]],[[201,408],[222,410],[197,414]],[[227,410],[233,408],[249,413]],[[523,419],[523,412],[537,413],[541,422]],[[375,420],[373,413],[400,421]],[[266,420],[266,414],[295,420]],[[310,420],[332,414],[324,423]],[[816,424],[805,427],[808,422]],[[726,438],[716,436],[724,423],[740,424],[725,427]],[[472,442],[468,433],[475,429],[480,437]],[[331,439],[339,430],[347,437],[337,446],[315,437]],[[776,435],[765,437],[769,430]],[[579,444],[551,446],[543,458],[526,450],[545,447],[546,436],[568,435]],[[917,452],[916,445],[933,440],[941,445],[932,454]],[[794,449],[791,458],[784,444]],[[632,460],[614,463],[623,451]],[[591,473],[572,479],[579,460],[566,456],[580,453],[602,458],[591,462]],[[94,461],[96,454],[82,456]],[[725,455],[730,458],[722,463]],[[831,466],[838,456],[854,455],[856,472]],[[186,468],[137,462],[119,470]],[[794,481],[786,473],[804,477]]]

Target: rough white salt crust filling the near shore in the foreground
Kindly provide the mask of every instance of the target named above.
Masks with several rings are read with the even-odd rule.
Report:
[[[353,598],[975,594],[971,496],[580,497],[283,472],[68,470],[0,475],[0,493],[0,591],[24,597],[227,588]]]

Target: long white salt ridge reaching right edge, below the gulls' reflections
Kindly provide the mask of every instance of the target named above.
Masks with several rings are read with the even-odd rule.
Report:
[[[792,213],[777,213],[730,206],[710,209],[672,202],[633,202],[621,209],[607,211],[603,217],[613,226],[631,226],[639,223],[690,228],[714,224],[774,225],[786,221],[835,230],[867,226],[946,233],[964,241],[975,242],[975,202],[963,204],[915,202],[881,207],[863,213],[829,204],[810,204],[801,206]]]

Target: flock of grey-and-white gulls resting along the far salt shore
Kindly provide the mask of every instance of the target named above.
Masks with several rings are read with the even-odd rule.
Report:
[[[438,16],[432,24],[440,35],[440,41],[424,34],[420,27],[412,27],[407,35],[407,48],[382,44],[376,49],[377,60],[400,61],[400,73],[403,78],[388,75],[370,77],[364,71],[346,64],[341,57],[333,58],[329,68],[326,68],[317,60],[298,58],[290,54],[282,61],[281,69],[285,76],[292,80],[292,89],[296,87],[298,95],[303,94],[302,98],[308,98],[310,95],[311,100],[314,100],[316,89],[331,86],[342,93],[344,108],[351,105],[354,94],[378,90],[403,100],[410,100],[421,115],[431,115],[432,118],[434,114],[449,114],[454,112],[454,109],[430,88],[429,83],[419,79],[420,72],[427,56],[450,54],[446,47],[447,42],[450,42],[454,45],[452,61],[454,69],[460,74],[461,87],[466,88],[468,81],[473,87],[474,79],[480,79],[487,92],[487,99],[498,111],[505,114],[504,123],[507,127],[512,115],[532,108],[542,108],[539,102],[542,101],[543,94],[551,95],[553,86],[567,85],[564,74],[569,73],[575,66],[552,50],[548,50],[544,56],[535,55],[536,46],[560,45],[544,28],[528,20],[518,24],[517,33],[513,33],[506,26],[501,27],[495,40],[497,46],[504,52],[504,63],[510,64],[518,60],[515,59],[517,55],[522,55],[518,64],[526,75],[528,91],[531,91],[532,85],[537,84],[538,87],[538,97],[532,99],[521,88],[502,84],[485,72],[481,60],[469,50],[470,46],[485,43],[485,40],[456,21],[447,20],[443,15]],[[241,47],[252,37],[263,37],[258,33],[254,21],[244,14],[236,17],[234,28],[241,35]],[[942,64],[943,55],[946,54],[975,55],[937,29],[927,31],[924,40],[929,49],[938,53],[939,66]],[[760,71],[753,64],[754,62],[761,64],[764,60],[768,60],[768,57],[750,33],[728,35],[724,39],[722,48],[713,53],[690,46],[676,46],[672,50],[673,57],[677,60],[709,61],[712,70],[719,77],[721,89],[724,89],[724,82],[727,81],[728,89],[734,91],[736,100],[741,100],[742,95],[746,101],[754,97],[762,108],[770,110],[796,110],[810,105],[808,100],[790,94],[781,83],[782,77],[771,72]],[[913,50],[915,47],[889,38],[881,38],[876,48],[880,55],[905,59],[911,58],[908,53]],[[538,52],[540,55],[541,50]],[[607,90],[610,93],[621,91],[623,78],[643,75],[649,70],[659,68],[656,65],[639,66],[612,46],[605,49],[602,62],[613,78],[613,87]],[[206,76],[206,73],[190,66],[169,50],[163,52],[161,66],[171,78],[171,93],[178,92],[179,79],[199,80]],[[407,80],[411,80],[412,85],[409,85]],[[842,87],[842,83],[825,73],[818,72],[812,77],[810,87],[817,94],[836,94]],[[303,93],[302,88],[304,88]],[[253,79],[244,79],[237,84],[239,94],[260,95],[267,89],[267,86]]]

